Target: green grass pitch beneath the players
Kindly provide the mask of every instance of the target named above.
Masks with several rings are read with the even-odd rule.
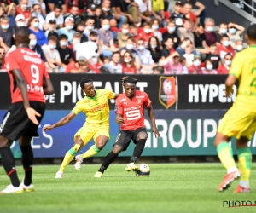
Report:
[[[223,201],[256,200],[256,172],[252,193],[234,194],[238,181],[218,193],[225,170],[221,164],[148,164],[149,177],[126,172],[125,164],[110,165],[101,179],[94,178],[100,165],[67,167],[63,179],[55,179],[59,166],[35,166],[34,193],[0,195],[0,212],[9,213],[215,213],[256,212],[256,207],[224,208]],[[255,168],[255,164],[253,164]],[[0,187],[9,184],[1,168]],[[17,168],[20,178],[21,167]]]

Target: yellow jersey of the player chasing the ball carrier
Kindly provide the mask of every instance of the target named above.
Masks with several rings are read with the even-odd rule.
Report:
[[[72,112],[76,115],[84,112],[87,117],[85,124],[109,125],[109,106],[108,99],[113,99],[115,93],[108,89],[96,90],[93,98],[85,96],[78,101]]]

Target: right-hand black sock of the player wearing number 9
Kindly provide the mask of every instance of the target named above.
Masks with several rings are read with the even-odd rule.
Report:
[[[32,165],[33,165],[33,151],[31,145],[20,146],[22,152],[22,164],[25,170],[24,184],[29,186],[32,183]]]

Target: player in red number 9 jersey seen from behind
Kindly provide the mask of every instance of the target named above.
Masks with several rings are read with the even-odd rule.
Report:
[[[33,191],[31,140],[38,136],[38,125],[44,116],[44,95],[53,94],[53,87],[44,61],[29,49],[29,30],[21,26],[15,33],[16,49],[5,56],[3,65],[9,72],[12,104],[0,126],[0,154],[3,168],[11,184],[0,193]],[[20,181],[10,146],[19,139],[25,178]]]

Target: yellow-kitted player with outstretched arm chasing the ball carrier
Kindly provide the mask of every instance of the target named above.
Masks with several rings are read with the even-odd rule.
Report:
[[[119,95],[109,91],[108,89],[95,90],[93,82],[90,78],[84,78],[80,82],[80,86],[86,96],[77,102],[66,117],[61,118],[56,124],[44,127],[43,131],[52,130],[56,127],[69,123],[79,112],[84,112],[86,121],[83,127],[74,135],[74,145],[66,153],[61,164],[60,170],[56,173],[55,178],[62,178],[63,172],[67,165],[73,160],[76,153],[81,147],[84,147],[91,138],[96,144],[91,146],[87,152],[83,154],[84,158],[89,158],[96,153],[101,152],[109,138],[109,107],[108,99],[116,99]]]

